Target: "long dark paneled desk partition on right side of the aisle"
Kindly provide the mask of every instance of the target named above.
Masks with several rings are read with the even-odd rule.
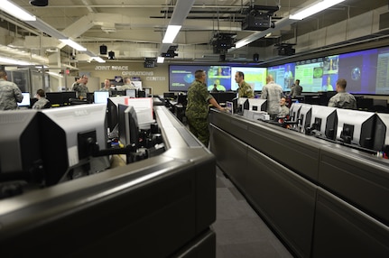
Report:
[[[214,109],[210,150],[296,257],[389,256],[387,160]]]

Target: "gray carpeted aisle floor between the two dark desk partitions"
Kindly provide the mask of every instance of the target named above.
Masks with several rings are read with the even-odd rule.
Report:
[[[217,258],[293,257],[217,169]]]

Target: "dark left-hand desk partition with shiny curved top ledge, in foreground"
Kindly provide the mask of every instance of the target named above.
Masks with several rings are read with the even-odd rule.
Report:
[[[155,109],[162,154],[0,200],[1,256],[215,257],[215,157]]]

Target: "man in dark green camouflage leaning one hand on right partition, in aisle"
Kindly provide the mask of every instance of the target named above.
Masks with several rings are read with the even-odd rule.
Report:
[[[225,108],[219,106],[216,99],[209,94],[205,81],[205,71],[197,70],[195,72],[195,81],[190,85],[190,88],[188,88],[188,105],[185,115],[188,118],[190,132],[194,134],[201,143],[208,147],[209,104],[217,107],[219,110],[225,110]]]

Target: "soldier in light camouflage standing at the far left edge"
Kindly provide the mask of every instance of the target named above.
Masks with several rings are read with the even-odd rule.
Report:
[[[18,109],[23,100],[22,91],[12,81],[8,81],[5,70],[0,70],[0,110]]]

